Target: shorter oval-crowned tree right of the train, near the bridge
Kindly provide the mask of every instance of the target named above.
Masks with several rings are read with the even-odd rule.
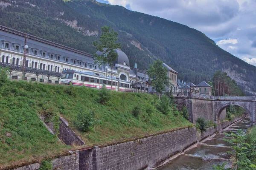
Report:
[[[151,81],[151,85],[153,89],[159,93],[162,93],[166,87],[170,87],[172,83],[169,81],[169,77],[167,76],[168,69],[163,67],[163,62],[160,59],[154,61],[154,64],[151,64],[148,70],[149,81]]]

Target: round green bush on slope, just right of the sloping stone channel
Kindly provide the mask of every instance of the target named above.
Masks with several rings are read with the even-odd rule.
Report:
[[[92,111],[80,112],[77,115],[77,127],[79,130],[92,130],[95,122],[95,114]]]

